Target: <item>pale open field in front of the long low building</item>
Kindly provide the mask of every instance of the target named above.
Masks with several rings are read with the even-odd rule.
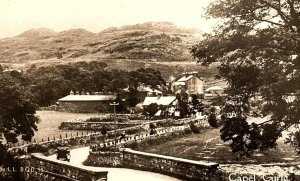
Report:
[[[40,142],[42,139],[47,140],[59,138],[60,135],[65,137],[75,135],[78,131],[74,130],[60,130],[59,125],[63,121],[86,118],[90,116],[99,116],[99,114],[80,114],[80,113],[67,113],[67,112],[56,112],[56,111],[37,111],[37,116],[40,117],[41,122],[38,124],[38,131],[36,132],[34,139]],[[79,134],[82,134],[79,132]],[[86,132],[84,132],[86,134]]]

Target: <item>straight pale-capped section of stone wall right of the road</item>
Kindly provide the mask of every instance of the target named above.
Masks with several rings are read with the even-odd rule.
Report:
[[[123,166],[153,171],[185,180],[217,180],[218,163],[194,161],[125,149]]]

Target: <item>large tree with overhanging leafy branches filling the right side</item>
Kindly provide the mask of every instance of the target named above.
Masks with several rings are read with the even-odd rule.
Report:
[[[245,126],[244,132],[252,135],[246,140],[224,141],[232,140],[234,151],[256,140],[245,155],[276,146],[282,131],[300,123],[300,2],[216,0],[206,15],[222,19],[222,24],[192,47],[192,55],[203,65],[218,62],[219,76],[228,81],[227,93],[239,110],[235,119],[243,122],[246,110],[241,108],[257,93],[265,101],[263,113],[271,115],[264,123]],[[242,134],[234,126],[228,129]]]

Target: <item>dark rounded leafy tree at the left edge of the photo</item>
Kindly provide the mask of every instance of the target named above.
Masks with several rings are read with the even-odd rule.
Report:
[[[9,143],[18,142],[18,137],[31,141],[38,130],[36,124],[39,119],[35,116],[37,105],[31,103],[25,89],[18,79],[0,74],[0,134]],[[0,165],[9,164],[11,156],[2,144],[0,152]]]

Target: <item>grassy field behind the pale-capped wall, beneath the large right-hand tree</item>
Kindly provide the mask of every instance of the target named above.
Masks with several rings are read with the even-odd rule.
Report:
[[[256,153],[249,159],[239,160],[231,152],[229,143],[224,143],[219,135],[219,129],[209,128],[202,130],[200,134],[188,135],[187,137],[146,148],[142,151],[192,160],[207,160],[222,164],[287,163],[300,161],[299,157],[295,157],[294,149],[289,145],[285,145],[282,141],[278,141],[278,148],[269,150],[267,153]]]

